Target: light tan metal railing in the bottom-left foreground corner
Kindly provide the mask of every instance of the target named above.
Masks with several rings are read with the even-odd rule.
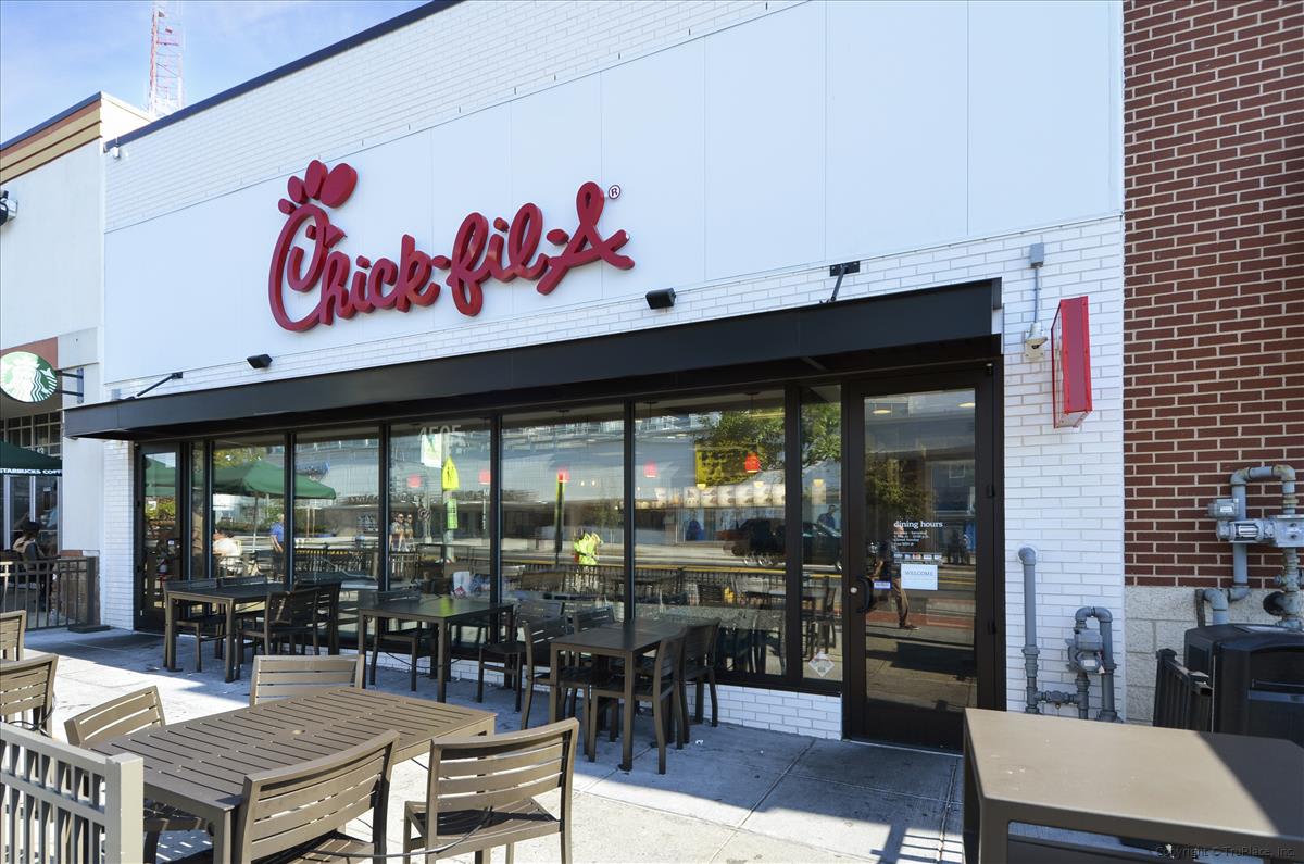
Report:
[[[3,737],[7,864],[143,860],[145,760],[102,756],[9,724]]]

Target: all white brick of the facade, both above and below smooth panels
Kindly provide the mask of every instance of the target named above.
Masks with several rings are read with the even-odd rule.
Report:
[[[259,87],[183,123],[130,142],[108,172],[107,230],[171,213],[304,164],[310,154],[331,161],[364,146],[428,128],[458,115],[552,86],[631,56],[649,54],[704,33],[794,5],[771,0],[721,3],[519,4],[467,3],[390,37]],[[529,26],[522,17],[529,16]],[[541,38],[542,35],[542,38]],[[466,46],[490,40],[492,51]],[[528,42],[528,46],[527,46]],[[325,99],[304,94],[330,94]],[[286,120],[288,119],[288,121]],[[239,144],[201,147],[230,128],[258,129]],[[192,154],[206,153],[202,166]],[[1039,321],[1048,329],[1063,296],[1090,296],[1095,412],[1078,429],[1052,429],[1050,362],[1021,356],[1031,320],[1031,270],[1026,252],[1045,243]],[[845,299],[884,295],[962,281],[1000,278],[1005,307],[1005,401],[1001,493],[1005,505],[1007,694],[1022,706],[1022,596],[1018,547],[1038,549],[1039,632],[1045,688],[1064,689],[1063,638],[1080,606],[1106,606],[1115,615],[1119,703],[1125,656],[1123,608],[1121,445],[1121,221],[1107,217],[1037,226],[862,261],[842,286]],[[784,268],[700,285],[675,286],[675,307],[649,315],[642,296],[575,308],[559,307],[526,320],[477,324],[454,332],[391,338],[330,352],[280,354],[271,369],[244,362],[185,369],[185,378],[156,393],[231,386],[303,375],[492,351],[815,304],[832,288],[824,264]],[[130,393],[153,380],[110,382]],[[129,449],[106,450],[103,566],[104,620],[132,624],[132,523]],[[750,724],[810,722],[807,733],[836,735],[838,701],[726,688],[722,717]],[[760,698],[764,697],[764,698]],[[1094,697],[1093,697],[1094,698]],[[777,702],[772,700],[778,700]],[[832,726],[831,726],[832,724]]]

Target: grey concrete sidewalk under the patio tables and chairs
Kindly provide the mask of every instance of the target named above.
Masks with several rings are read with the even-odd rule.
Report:
[[[196,673],[163,671],[158,636],[42,630],[29,633],[27,645],[61,655],[55,694],[60,739],[68,717],[149,685],[159,688],[170,722],[249,703],[249,666],[245,679],[224,683],[211,646],[205,646],[203,672]],[[193,642],[180,640],[177,656],[184,670],[193,670]],[[381,689],[409,693],[406,672],[382,668],[377,681]],[[417,696],[433,694],[434,681],[422,676]],[[475,681],[450,683],[449,701],[476,705]],[[541,702],[535,700],[535,724],[546,720]],[[510,692],[486,687],[481,707],[498,713],[501,731],[520,727]],[[659,775],[649,717],[638,719],[635,733],[632,771],[615,766],[621,745],[605,735],[596,762],[583,756],[576,762],[576,861],[962,860],[957,757],[694,724],[689,744],[668,750],[666,774]],[[402,851],[400,801],[424,796],[424,771],[415,762],[396,766],[391,852]],[[545,805],[553,803],[544,797]],[[190,854],[202,842],[202,835],[164,837],[160,857],[170,850]],[[518,861],[558,859],[556,838],[516,848]]]

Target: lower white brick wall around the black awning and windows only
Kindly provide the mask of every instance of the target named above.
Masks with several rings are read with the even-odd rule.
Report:
[[[973,279],[1000,278],[1004,295],[1005,359],[1005,641],[1007,701],[1022,707],[1022,569],[1017,552],[1038,549],[1038,633],[1042,649],[1043,689],[1072,689],[1064,668],[1063,640],[1069,636],[1073,612],[1081,606],[1104,606],[1114,613],[1118,651],[1118,703],[1125,706],[1125,624],[1123,607],[1123,415],[1121,415],[1121,221],[1094,219],[1077,224],[1025,231],[1001,238],[957,243],[909,255],[863,261],[861,273],[842,285],[845,299],[944,286]],[[1094,412],[1077,429],[1051,428],[1050,360],[1035,365],[1022,358],[1022,334],[1031,320],[1033,279],[1026,266],[1028,247],[1046,244],[1042,268],[1039,320],[1046,329],[1060,298],[1090,296],[1091,375]],[[681,292],[675,307],[656,318],[681,324],[742,315],[762,308],[811,305],[828,296],[827,270],[793,269],[764,278],[703,285]],[[642,299],[638,305],[642,305]],[[479,334],[484,342],[439,334],[391,339],[356,351],[304,356],[283,377],[330,372],[390,362],[417,360],[476,348],[529,345],[558,338],[597,335],[649,326],[645,308],[617,301],[595,307],[585,321],[554,321],[540,316],[529,326],[499,326]],[[175,386],[202,389],[253,377],[246,364],[188,373]],[[106,453],[106,561],[104,579],[130,581],[130,483],[128,453],[115,445]],[[117,555],[112,552],[117,549]],[[104,593],[106,623],[130,626],[130,590],[111,586]],[[111,603],[112,600],[112,603]],[[113,617],[110,617],[112,608]],[[803,697],[805,698],[805,697]],[[823,698],[823,697],[820,697]],[[836,700],[835,700],[836,702]],[[1099,694],[1093,690],[1093,702]],[[730,707],[746,718],[754,709],[745,702]],[[823,710],[823,709],[822,709]],[[790,713],[788,713],[790,714]],[[763,722],[784,723],[784,711]],[[840,724],[840,714],[833,713]],[[738,722],[742,722],[739,719]]]

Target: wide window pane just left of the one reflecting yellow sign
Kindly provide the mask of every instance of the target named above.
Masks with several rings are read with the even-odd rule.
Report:
[[[295,578],[376,587],[382,530],[379,429],[299,435],[293,467]],[[284,512],[271,516],[271,555],[284,561]]]

